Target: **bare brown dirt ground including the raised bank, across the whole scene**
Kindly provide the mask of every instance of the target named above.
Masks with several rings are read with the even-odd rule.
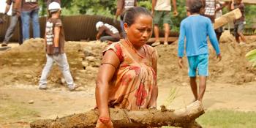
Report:
[[[256,38],[247,39],[246,45],[237,45],[232,37],[222,37],[220,62],[210,46],[210,76],[203,99],[207,110],[256,110],[256,69],[244,58],[249,50],[256,48]],[[67,58],[79,86],[77,91],[68,91],[56,65],[48,78],[49,89],[37,89],[45,64],[42,39],[30,39],[16,46],[0,52],[0,127],[29,127],[29,122],[39,118],[68,116],[95,107],[94,81],[105,43],[67,42]],[[159,53],[157,105],[166,105],[170,90],[176,89],[176,98],[167,108],[184,108],[193,96],[187,67],[178,68],[177,42],[156,48]]]

